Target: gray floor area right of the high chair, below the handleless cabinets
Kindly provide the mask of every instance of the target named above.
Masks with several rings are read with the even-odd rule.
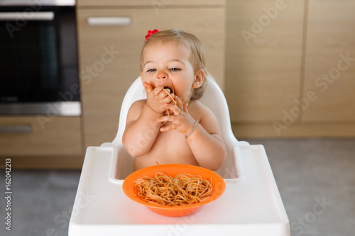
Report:
[[[291,235],[354,235],[355,140],[248,140],[262,144]]]

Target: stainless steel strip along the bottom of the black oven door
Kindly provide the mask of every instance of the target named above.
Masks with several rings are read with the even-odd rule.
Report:
[[[0,104],[0,115],[43,115],[53,118],[53,116],[81,116],[81,114],[80,101]]]

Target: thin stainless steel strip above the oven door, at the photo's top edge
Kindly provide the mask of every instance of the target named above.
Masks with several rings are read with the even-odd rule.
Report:
[[[75,0],[0,0],[0,6],[75,6]]]

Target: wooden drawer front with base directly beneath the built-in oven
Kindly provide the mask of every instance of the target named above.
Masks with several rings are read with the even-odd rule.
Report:
[[[0,130],[0,158],[14,169],[82,165],[80,117],[3,116]]]

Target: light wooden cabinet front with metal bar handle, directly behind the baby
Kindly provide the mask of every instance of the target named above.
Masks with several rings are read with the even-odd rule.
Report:
[[[114,139],[124,94],[141,74],[139,57],[148,30],[180,28],[195,34],[206,50],[209,72],[224,87],[224,1],[77,4],[85,147]],[[117,18],[118,25],[102,23]]]

